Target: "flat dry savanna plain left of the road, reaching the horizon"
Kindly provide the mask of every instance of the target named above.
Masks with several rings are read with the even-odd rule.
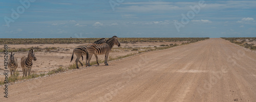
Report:
[[[35,57],[37,61],[33,61],[33,67],[31,74],[47,74],[49,71],[57,69],[59,67],[67,67],[74,65],[76,56],[74,55],[74,60],[71,61],[71,56],[73,49],[79,45],[87,45],[93,43],[100,38],[62,38],[62,39],[1,39],[0,43],[19,43],[19,44],[7,44],[8,52],[14,52],[15,57],[18,61],[17,72],[19,77],[23,75],[22,67],[20,66],[20,59],[23,56],[28,55],[28,50],[33,48],[35,50]],[[190,38],[119,38],[121,47],[114,46],[109,55],[109,59],[114,59],[121,56],[138,54],[141,52],[146,52],[156,47],[166,47],[173,45],[187,44],[191,42]],[[191,38],[193,41],[202,40],[203,38]],[[34,44],[28,44],[28,43]],[[67,44],[67,43],[72,44]],[[40,43],[40,44],[39,44]],[[62,43],[62,44],[60,44]],[[1,44],[2,53],[4,50],[4,45]],[[104,61],[104,55],[98,55],[99,61]],[[86,56],[84,56],[83,61],[85,61]],[[82,61],[82,58],[80,58]],[[0,61],[4,62],[4,53],[0,55]],[[96,61],[95,57],[92,57],[91,61]],[[80,65],[80,64],[79,64]],[[104,65],[103,63],[100,65]],[[0,66],[4,66],[4,63],[0,63]],[[80,66],[85,67],[85,66]],[[4,68],[0,68],[0,81],[4,80]]]

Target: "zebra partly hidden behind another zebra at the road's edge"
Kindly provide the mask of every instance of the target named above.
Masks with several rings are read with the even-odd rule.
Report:
[[[95,41],[94,44],[101,44],[101,43],[105,43],[105,42],[106,42],[105,38],[101,38],[101,39]],[[88,44],[88,45],[90,45],[90,44]],[[82,62],[79,59],[83,55],[87,55],[86,48],[87,48],[88,45],[80,45],[80,46],[75,47],[75,49],[73,50],[73,54],[72,54],[70,62],[72,62],[73,57],[74,57],[74,53],[75,53],[75,55],[76,55],[76,68],[79,68],[77,62],[79,62],[82,65]],[[94,56],[96,58],[97,64],[99,65],[98,56],[96,54]],[[83,60],[83,57],[82,57],[82,60]],[[86,62],[87,62],[87,59],[86,59]],[[87,63],[86,63],[86,66],[88,66]]]

